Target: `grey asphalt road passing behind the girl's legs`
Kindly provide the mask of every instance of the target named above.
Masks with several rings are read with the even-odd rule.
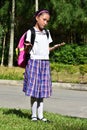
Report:
[[[22,85],[0,84],[0,107],[31,109],[30,97],[22,92]],[[87,91],[53,86],[52,96],[44,99],[44,111],[87,118]]]

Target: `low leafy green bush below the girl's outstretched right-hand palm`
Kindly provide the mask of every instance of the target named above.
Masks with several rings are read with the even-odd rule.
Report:
[[[51,54],[51,61],[64,64],[87,64],[87,46],[65,45]]]

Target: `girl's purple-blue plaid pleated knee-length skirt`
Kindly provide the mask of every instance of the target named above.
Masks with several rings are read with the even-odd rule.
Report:
[[[52,93],[49,60],[28,61],[24,74],[23,91],[25,95],[48,98]]]

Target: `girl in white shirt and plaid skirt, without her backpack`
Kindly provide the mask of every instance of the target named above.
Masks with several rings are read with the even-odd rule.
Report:
[[[47,122],[48,120],[43,116],[43,99],[50,97],[52,93],[49,51],[54,50],[65,43],[49,47],[52,38],[49,31],[49,37],[47,38],[44,29],[50,20],[48,10],[37,11],[35,20],[35,41],[30,51],[30,59],[28,60],[25,69],[23,91],[25,92],[25,95],[31,97],[32,121],[41,120]],[[32,46],[30,38],[31,31],[28,30],[25,43],[26,50]]]

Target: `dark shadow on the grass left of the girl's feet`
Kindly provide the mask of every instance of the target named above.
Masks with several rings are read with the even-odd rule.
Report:
[[[22,110],[17,110],[17,109],[7,109],[7,110],[3,110],[3,114],[5,115],[12,115],[12,114],[15,114],[17,115],[18,117],[24,117],[24,118],[28,118],[28,119],[31,119],[31,114],[28,113],[28,112],[23,112]]]

